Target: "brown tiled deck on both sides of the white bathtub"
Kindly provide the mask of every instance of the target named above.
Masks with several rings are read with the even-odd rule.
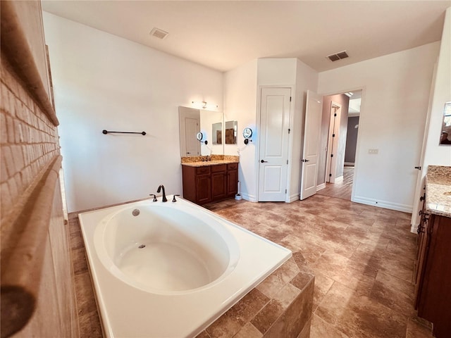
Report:
[[[69,223],[80,335],[102,337],[77,213]],[[314,276],[290,258],[197,337],[309,337],[313,298]]]

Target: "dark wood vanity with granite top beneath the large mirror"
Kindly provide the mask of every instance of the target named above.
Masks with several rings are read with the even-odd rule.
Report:
[[[223,155],[183,157],[183,197],[195,204],[233,198],[237,194],[239,159]]]

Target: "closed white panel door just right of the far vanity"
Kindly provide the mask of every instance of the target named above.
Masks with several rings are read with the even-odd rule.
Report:
[[[290,88],[261,89],[259,201],[285,201],[290,95]]]

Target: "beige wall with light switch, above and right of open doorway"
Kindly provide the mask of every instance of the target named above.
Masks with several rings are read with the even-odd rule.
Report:
[[[433,42],[319,73],[321,94],[362,89],[352,201],[412,212],[439,47]]]

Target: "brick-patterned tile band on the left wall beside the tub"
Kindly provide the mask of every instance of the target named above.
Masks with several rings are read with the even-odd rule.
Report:
[[[23,82],[1,57],[1,220],[38,173],[58,155],[58,130],[37,106]]]

